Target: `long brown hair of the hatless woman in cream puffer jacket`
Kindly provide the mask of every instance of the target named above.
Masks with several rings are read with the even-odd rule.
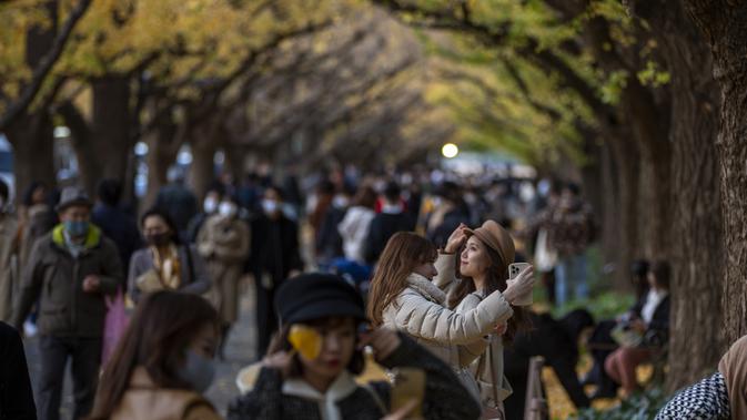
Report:
[[[369,319],[381,326],[384,309],[407,287],[407,276],[424,263],[438,256],[436,247],[426,238],[411,232],[398,232],[386,243],[369,291]]]

